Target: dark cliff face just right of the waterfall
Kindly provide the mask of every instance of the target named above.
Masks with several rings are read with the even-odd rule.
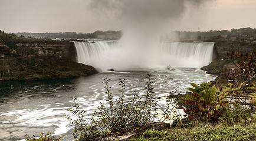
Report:
[[[243,54],[254,51],[256,42],[239,42],[239,41],[218,41],[214,44],[214,51],[217,59],[227,59],[227,52],[240,52]]]

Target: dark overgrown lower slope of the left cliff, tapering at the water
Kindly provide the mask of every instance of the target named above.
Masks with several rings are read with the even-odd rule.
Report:
[[[0,59],[0,80],[76,78],[93,75],[92,66],[54,56]]]

